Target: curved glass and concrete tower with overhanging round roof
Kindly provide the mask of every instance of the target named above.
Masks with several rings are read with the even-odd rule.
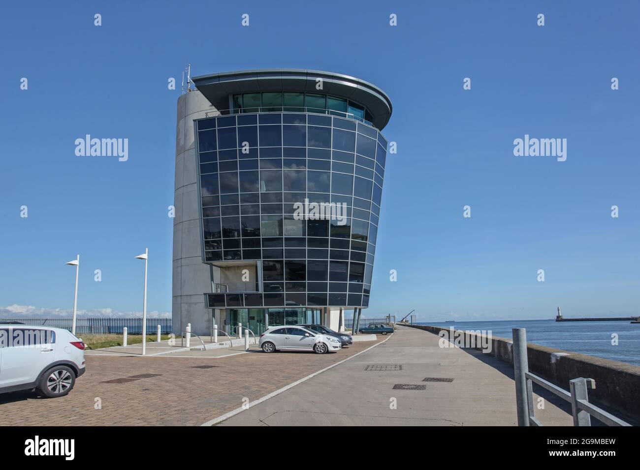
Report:
[[[178,106],[175,331],[339,330],[369,306],[389,98],[313,70],[193,83]]]

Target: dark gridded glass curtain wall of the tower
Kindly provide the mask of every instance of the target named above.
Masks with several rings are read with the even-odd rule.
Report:
[[[380,132],[312,113],[233,114],[197,129],[204,261],[262,262],[262,292],[207,294],[209,308],[367,307],[387,155]],[[305,200],[346,212],[296,219]]]

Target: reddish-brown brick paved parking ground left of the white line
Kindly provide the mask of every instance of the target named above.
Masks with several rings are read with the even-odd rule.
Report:
[[[200,425],[367,349],[356,342],[333,354],[249,352],[230,357],[86,356],[86,370],[71,393],[38,398],[0,395],[0,425]],[[179,353],[177,353],[179,354]],[[193,368],[212,365],[213,368]],[[142,373],[127,383],[104,383]],[[100,398],[102,409],[95,409]]]

